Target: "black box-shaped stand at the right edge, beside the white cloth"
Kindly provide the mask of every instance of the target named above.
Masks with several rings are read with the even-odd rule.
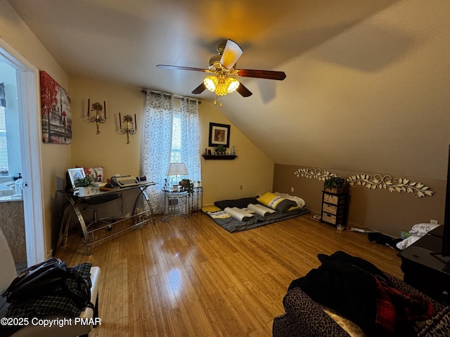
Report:
[[[430,231],[399,256],[404,282],[444,303],[450,294],[450,258],[437,253],[442,249],[442,230],[439,226]]]

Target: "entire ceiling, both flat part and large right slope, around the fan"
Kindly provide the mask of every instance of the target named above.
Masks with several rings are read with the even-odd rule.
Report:
[[[192,96],[202,73],[155,65],[207,67],[237,41],[239,68],[287,74],[221,108],[277,164],[445,176],[449,1],[8,2],[70,76],[137,88]]]

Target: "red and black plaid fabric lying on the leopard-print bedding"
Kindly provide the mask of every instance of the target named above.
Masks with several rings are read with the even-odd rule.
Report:
[[[378,293],[375,336],[416,336],[414,322],[425,321],[435,314],[425,298],[385,286],[376,277],[375,284]]]

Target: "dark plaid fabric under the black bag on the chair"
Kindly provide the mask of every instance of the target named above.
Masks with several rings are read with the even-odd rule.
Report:
[[[91,263],[82,263],[72,267],[80,277],[86,279],[91,289]],[[75,279],[66,279],[65,286],[79,296],[83,296],[77,288]],[[90,293],[90,291],[89,291]],[[90,300],[87,298],[86,300]],[[56,286],[45,294],[39,294],[29,300],[13,300],[6,312],[6,317],[46,317],[49,315],[61,315],[63,317],[78,317],[81,309],[79,303],[68,296],[64,286]]]

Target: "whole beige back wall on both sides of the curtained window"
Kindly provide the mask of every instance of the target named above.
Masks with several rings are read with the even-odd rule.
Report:
[[[131,136],[117,134],[118,113],[136,114],[142,125],[145,96],[140,88],[125,87],[102,81],[70,79],[72,96],[73,143],[70,166],[103,166],[105,177],[115,173],[139,175],[141,173],[141,132]],[[87,100],[91,103],[106,102],[108,119],[96,134],[95,123],[83,121]],[[199,105],[200,149],[208,147],[210,122],[231,124],[219,107],[208,102]],[[201,159],[203,203],[213,204],[221,199],[249,197],[271,189],[274,163],[250,140],[231,124],[230,146],[235,146],[238,158],[235,160],[205,161]],[[240,186],[242,185],[242,190]]]

